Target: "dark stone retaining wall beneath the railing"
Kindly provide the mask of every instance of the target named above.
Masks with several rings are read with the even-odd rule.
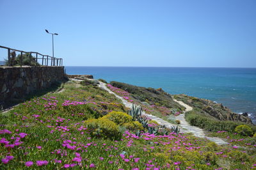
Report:
[[[64,66],[0,67],[0,107],[63,78]]]

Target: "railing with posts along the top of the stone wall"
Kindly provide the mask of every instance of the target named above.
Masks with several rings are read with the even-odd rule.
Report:
[[[20,61],[19,62],[20,66],[23,65],[23,62],[22,62],[22,60],[23,60],[22,55],[23,54],[30,54],[29,55],[29,63],[31,63],[32,54],[35,54],[35,57],[33,57],[33,58],[35,59],[36,63],[39,63],[40,59],[42,59],[42,61],[39,63],[40,65],[41,65],[41,63],[42,63],[42,65],[45,65],[45,66],[62,66],[63,65],[63,59],[62,58],[54,58],[54,57],[51,57],[51,56],[48,56],[48,55],[40,54],[39,52],[26,52],[26,51],[23,51],[23,50],[11,49],[11,48],[4,47],[4,46],[1,46],[1,45],[0,45],[0,48],[7,49],[8,61],[10,61],[10,59],[11,59],[11,50],[20,52],[20,60],[19,60]],[[49,60],[51,62],[51,65],[50,65]]]

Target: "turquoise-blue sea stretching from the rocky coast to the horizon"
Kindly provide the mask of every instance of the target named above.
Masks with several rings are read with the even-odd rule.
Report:
[[[248,112],[256,124],[256,68],[65,66],[65,72],[207,98],[233,112]]]

